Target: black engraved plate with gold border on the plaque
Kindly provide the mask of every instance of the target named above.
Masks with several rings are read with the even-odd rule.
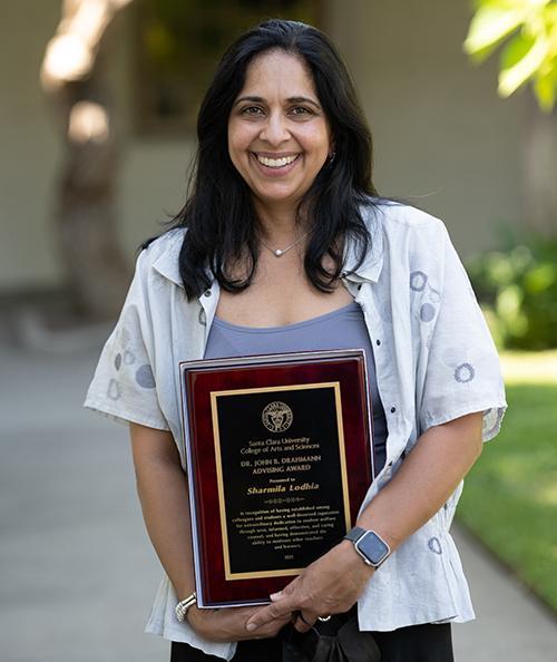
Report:
[[[339,382],[212,393],[226,580],[295,575],[350,526]]]

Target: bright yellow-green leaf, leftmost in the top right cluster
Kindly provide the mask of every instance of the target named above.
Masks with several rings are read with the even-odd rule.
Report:
[[[463,48],[470,56],[482,60],[490,55],[508,35],[514,32],[525,19],[524,10],[505,9],[486,4],[473,16]]]

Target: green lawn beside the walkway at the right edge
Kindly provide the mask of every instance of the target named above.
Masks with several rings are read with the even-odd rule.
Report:
[[[544,354],[555,364],[555,352]],[[557,382],[507,383],[507,398],[501,432],[468,474],[457,515],[557,611]]]

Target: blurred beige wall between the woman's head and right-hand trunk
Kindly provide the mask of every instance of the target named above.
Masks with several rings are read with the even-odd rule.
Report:
[[[442,217],[465,254],[492,245],[497,223],[521,220],[529,101],[497,97],[497,58],[476,68],[463,55],[471,4],[328,3],[373,132],[380,193]]]

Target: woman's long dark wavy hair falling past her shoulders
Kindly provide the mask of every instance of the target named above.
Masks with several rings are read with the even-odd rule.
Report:
[[[227,127],[247,67],[274,49],[300,57],[309,67],[335,152],[297,207],[299,220],[303,208],[310,228],[305,273],[316,289],[331,292],[343,270],[349,236],[356,242],[359,263],[370,247],[360,205],[370,204],[370,196],[377,195],[371,177],[372,140],[346,67],[320,30],[297,21],[268,20],[227,49],[199,109],[190,196],[172,221],[172,228],[187,227],[179,270],[188,300],[199,296],[213,278],[229,292],[252,283],[261,245],[258,223],[251,189],[228,155]],[[324,257],[329,257],[328,267]],[[240,279],[231,273],[238,264],[243,266]]]

